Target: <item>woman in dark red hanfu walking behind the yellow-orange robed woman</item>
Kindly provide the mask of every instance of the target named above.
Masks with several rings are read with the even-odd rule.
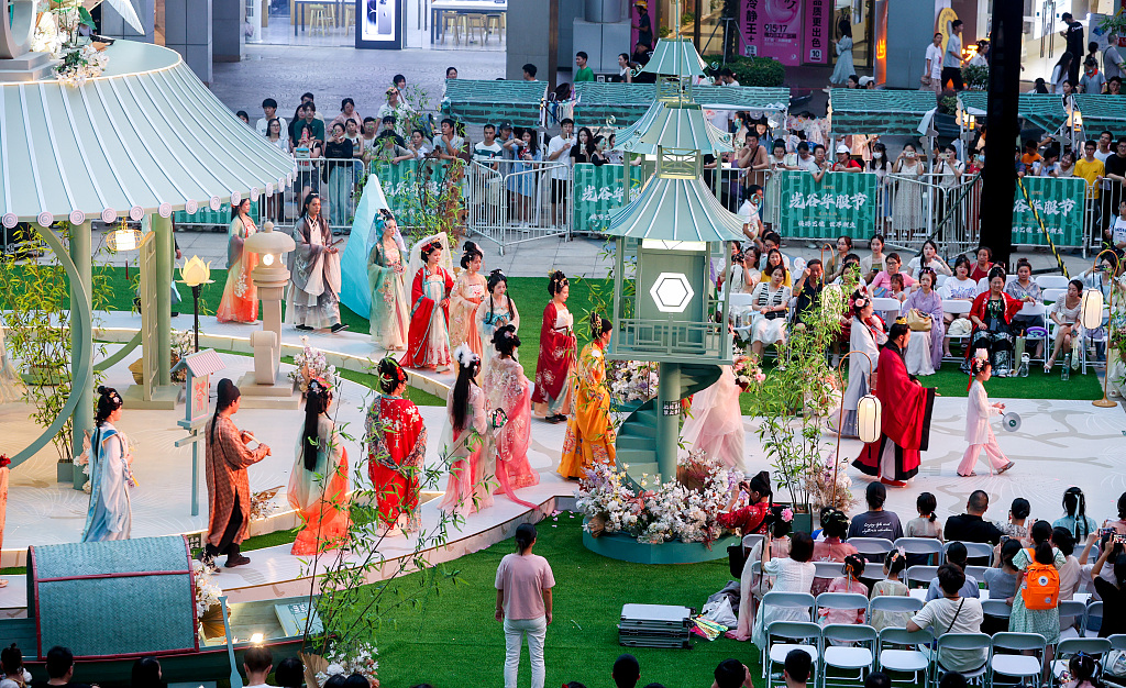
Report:
[[[574,367],[574,316],[566,310],[571,286],[566,275],[552,272],[547,283],[552,300],[544,309],[539,329],[539,358],[536,360],[536,388],[531,394],[533,410],[547,422],[563,422],[571,412],[571,385]]]

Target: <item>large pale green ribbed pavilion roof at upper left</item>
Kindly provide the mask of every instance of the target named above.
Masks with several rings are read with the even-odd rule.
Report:
[[[272,193],[293,158],[168,48],[117,41],[102,75],[0,83],[0,218],[113,222]]]

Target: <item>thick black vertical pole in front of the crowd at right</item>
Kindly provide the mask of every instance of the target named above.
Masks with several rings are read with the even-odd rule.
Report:
[[[998,143],[985,148],[982,193],[983,197],[995,203],[982,204],[978,245],[992,249],[993,261],[1008,270],[1012,252],[1012,199],[1017,191],[1017,172],[1009,146],[1020,135],[1017,117],[1024,3],[1020,0],[994,0],[992,26],[985,124],[989,140]]]

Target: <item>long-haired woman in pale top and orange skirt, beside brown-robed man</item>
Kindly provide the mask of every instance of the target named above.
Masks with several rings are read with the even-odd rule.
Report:
[[[329,418],[332,390],[320,378],[309,383],[305,428],[289,476],[289,504],[303,524],[292,554],[334,549],[348,538],[348,453]]]

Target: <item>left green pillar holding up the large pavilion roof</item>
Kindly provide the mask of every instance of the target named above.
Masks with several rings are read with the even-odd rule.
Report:
[[[93,285],[93,270],[90,250],[90,223],[84,222],[79,225],[71,225],[70,231],[70,253],[74,267],[78,269],[80,282],[71,279],[71,376],[79,379],[78,369],[80,366],[93,366],[93,329],[75,319],[73,315],[81,307],[91,306],[91,287]],[[82,453],[82,440],[88,430],[93,429],[93,387],[90,384],[83,385],[79,392],[79,402],[74,408],[73,426],[71,427],[71,450],[78,457]],[[81,490],[86,484],[86,474],[81,470],[74,470],[72,482],[75,490]]]

